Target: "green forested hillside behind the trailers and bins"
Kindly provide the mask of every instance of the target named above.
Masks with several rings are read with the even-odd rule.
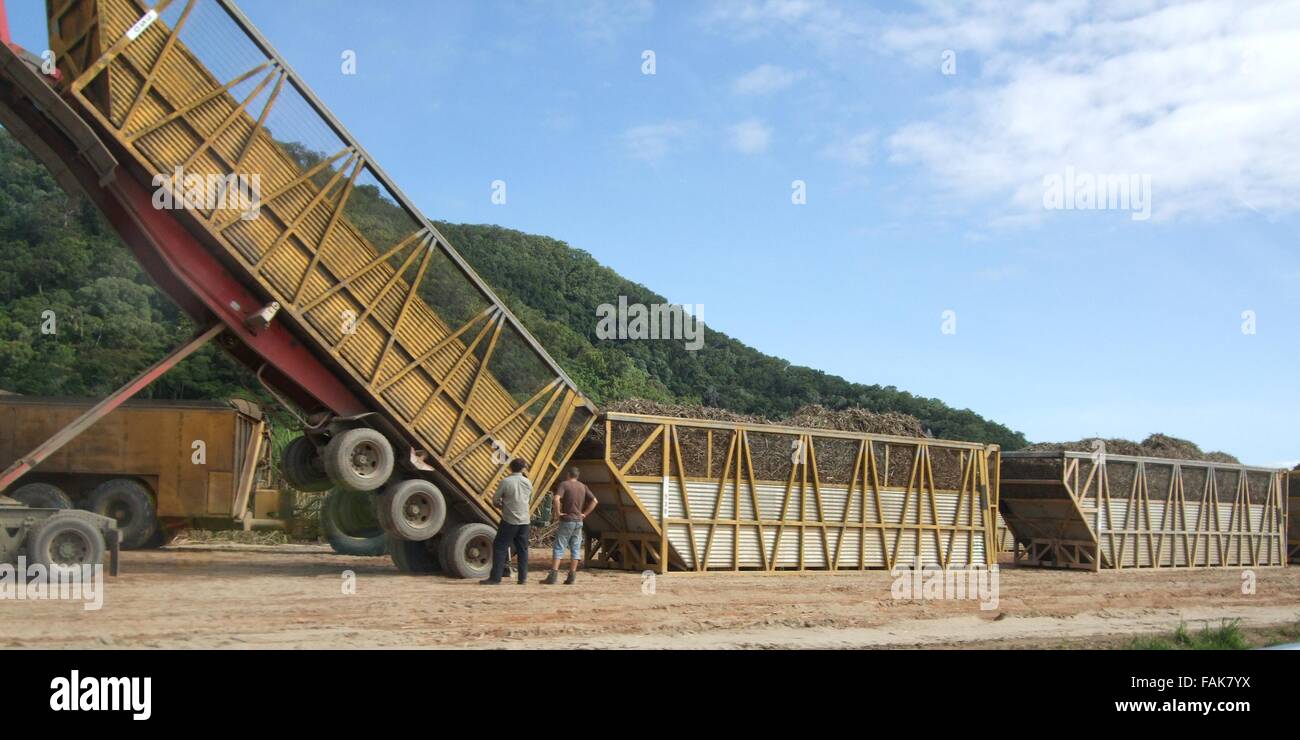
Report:
[[[370,204],[377,202],[373,194]],[[358,203],[365,203],[359,199]],[[376,205],[382,208],[382,205]],[[968,410],[892,386],[863,385],[764,355],[720,332],[703,347],[598,339],[597,306],[666,303],[564,242],[498,226],[438,224],[451,243],[598,403],[644,397],[768,417],[806,403],[898,411],[936,437],[1024,437]],[[44,169],[0,130],[0,389],[96,395],[190,334],[187,320],[144,277],[90,205],[69,207]],[[53,311],[55,334],[42,333]],[[250,395],[256,384],[212,347],[159,380],[159,398]]]

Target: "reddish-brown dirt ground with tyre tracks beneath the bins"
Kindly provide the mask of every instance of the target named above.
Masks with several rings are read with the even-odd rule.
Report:
[[[124,553],[98,611],[0,600],[0,648],[1096,648],[1179,622],[1300,622],[1300,568],[1254,574],[1243,594],[1236,570],[1004,566],[997,606],[982,610],[894,598],[888,572],[584,571],[543,587],[534,571],[526,587],[482,587],[316,546],[190,545]]]

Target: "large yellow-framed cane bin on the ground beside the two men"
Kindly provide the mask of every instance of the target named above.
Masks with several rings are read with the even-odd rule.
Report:
[[[608,412],[573,464],[601,501],[594,567],[996,562],[996,445]]]

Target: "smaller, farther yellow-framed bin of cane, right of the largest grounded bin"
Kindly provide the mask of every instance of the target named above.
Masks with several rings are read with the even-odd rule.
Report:
[[[1286,562],[1286,472],[1097,453],[1006,453],[1015,562],[1101,568]]]

